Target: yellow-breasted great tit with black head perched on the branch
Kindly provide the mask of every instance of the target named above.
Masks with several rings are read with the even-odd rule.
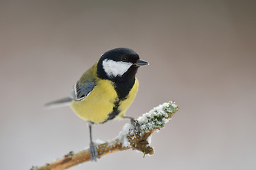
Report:
[[[137,69],[149,65],[139,59],[134,50],[118,47],[101,55],[90,69],[71,89],[69,97],[46,103],[48,108],[70,106],[79,118],[86,120],[90,131],[90,156],[92,161],[98,158],[97,148],[92,141],[92,125],[105,123],[125,116],[134,101],[139,87],[135,77]]]

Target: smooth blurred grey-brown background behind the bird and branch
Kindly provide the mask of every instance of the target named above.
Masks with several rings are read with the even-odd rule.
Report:
[[[43,104],[68,96],[107,50],[139,69],[134,118],[175,100],[152,157],[117,152],[71,169],[256,169],[255,1],[0,1],[0,169],[30,169],[89,145],[85,121]],[[127,120],[93,127],[109,140]]]

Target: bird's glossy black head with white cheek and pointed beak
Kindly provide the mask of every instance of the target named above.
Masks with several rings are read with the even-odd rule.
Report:
[[[97,76],[101,79],[124,81],[134,79],[140,66],[149,65],[139,60],[139,55],[129,48],[115,48],[105,52],[97,64]]]

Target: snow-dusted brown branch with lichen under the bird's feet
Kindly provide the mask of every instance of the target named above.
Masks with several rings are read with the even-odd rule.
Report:
[[[145,154],[154,154],[154,149],[149,146],[151,133],[164,128],[164,125],[169,122],[176,111],[178,111],[178,106],[175,101],[170,101],[153,108],[149,113],[145,113],[137,119],[141,128],[140,132],[134,128],[134,125],[130,123],[125,124],[118,137],[105,143],[97,144],[98,157],[127,149],[139,150],[144,153],[144,156]],[[68,169],[71,166],[90,160],[90,149],[84,149],[75,154],[74,152],[69,152],[64,157],[50,164],[41,167],[33,166],[31,170]]]

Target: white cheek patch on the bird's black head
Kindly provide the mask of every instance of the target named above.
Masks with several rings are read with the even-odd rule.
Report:
[[[102,67],[105,70],[108,77],[122,77],[127,72],[129,67],[132,66],[130,62],[115,62],[113,60],[103,60]]]

